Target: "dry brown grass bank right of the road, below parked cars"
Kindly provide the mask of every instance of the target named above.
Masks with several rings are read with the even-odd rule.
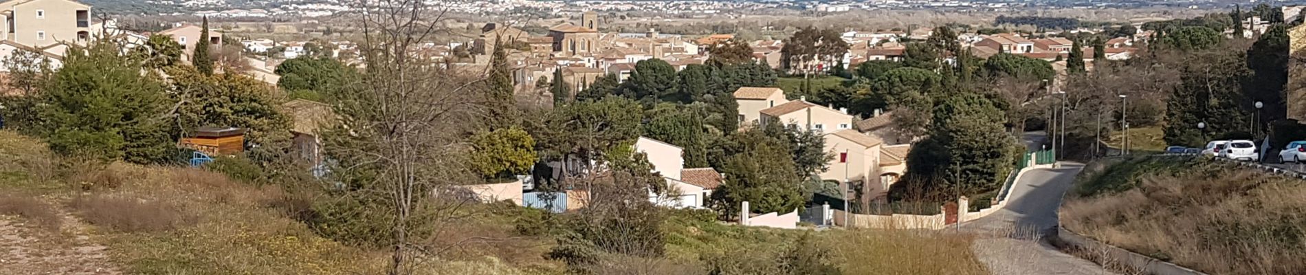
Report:
[[[1144,176],[1136,188],[1067,202],[1062,222],[1084,236],[1211,274],[1306,270],[1302,181],[1230,166],[1195,169],[1222,172]]]

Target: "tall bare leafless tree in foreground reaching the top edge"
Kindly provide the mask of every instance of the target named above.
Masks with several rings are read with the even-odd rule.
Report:
[[[360,83],[343,93],[342,121],[326,137],[338,160],[333,173],[350,197],[374,202],[388,222],[388,274],[413,274],[424,259],[464,241],[436,241],[440,231],[469,218],[465,193],[452,185],[468,173],[465,136],[481,117],[478,78],[454,73],[421,51],[447,33],[439,3],[363,0],[355,9],[362,31]],[[443,248],[435,244],[452,244]]]

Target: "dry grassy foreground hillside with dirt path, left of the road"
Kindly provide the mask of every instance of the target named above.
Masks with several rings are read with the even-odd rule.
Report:
[[[0,162],[13,164],[0,167],[0,233],[25,237],[0,242],[3,255],[22,259],[0,263],[3,268],[380,274],[388,263],[381,249],[342,244],[302,223],[300,210],[313,199],[302,190],[206,169],[63,159],[9,130],[0,130]],[[447,225],[441,240],[486,241],[451,244],[449,252],[424,261],[419,274],[568,272],[563,262],[546,258],[559,231],[551,227],[565,220],[562,215],[504,203],[468,207],[481,216]],[[966,235],[748,228],[701,211],[671,211],[661,232],[663,257],[602,254],[590,271],[810,274],[799,263],[811,263],[828,271],[823,274],[987,274]]]

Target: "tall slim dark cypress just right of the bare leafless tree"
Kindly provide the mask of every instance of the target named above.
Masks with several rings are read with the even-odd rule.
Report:
[[[486,108],[490,109],[490,128],[502,129],[516,124],[517,100],[513,93],[512,78],[508,73],[508,53],[494,42],[494,53],[490,60],[490,96]]]

